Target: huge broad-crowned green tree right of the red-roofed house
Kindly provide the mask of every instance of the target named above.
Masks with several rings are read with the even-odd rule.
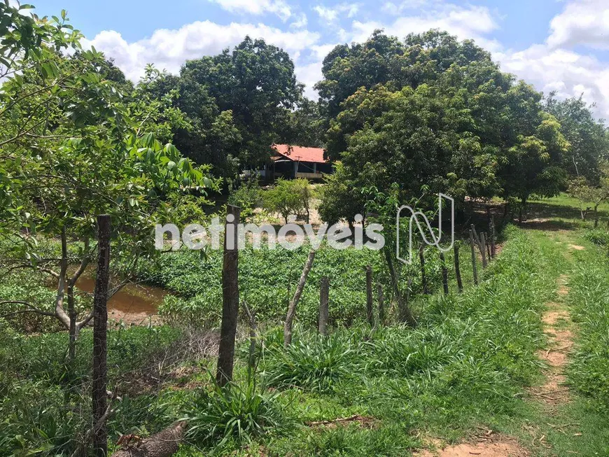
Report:
[[[379,73],[359,66],[364,50],[386,59]],[[400,64],[388,63],[394,60]],[[328,153],[342,161],[354,190],[386,192],[397,183],[406,195],[422,188],[448,193],[463,208],[465,197],[501,195],[524,204],[530,195],[564,188],[569,144],[559,122],[544,111],[540,93],[501,72],[471,41],[429,31],[402,44],[375,32],[363,45],[335,48],[327,61],[318,87],[328,115],[338,109]],[[353,68],[354,83],[344,80]],[[348,218],[349,204],[343,206]]]

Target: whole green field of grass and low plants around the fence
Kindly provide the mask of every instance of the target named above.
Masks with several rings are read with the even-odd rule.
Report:
[[[435,293],[415,296],[414,330],[397,325],[391,309],[388,327],[364,323],[363,268],[372,265],[375,279],[386,281],[377,253],[322,250],[288,349],[277,324],[306,250],[246,251],[243,290],[262,316],[257,364],[248,368],[243,326],[230,389],[211,377],[219,256],[175,253],[144,264],[141,277],[174,294],[162,307],[170,324],[109,333],[110,388],[120,386],[122,397],[111,441],[188,419],[179,457],[405,456],[475,442],[481,430],[513,437],[532,456],[608,455],[609,234],[578,217],[566,197],[532,202],[523,226],[505,230],[498,258],[479,266],[478,287],[462,246],[461,294],[452,274],[451,293],[441,293],[429,251]],[[327,338],[312,329],[323,274],[333,278]],[[35,278],[29,287],[12,281],[0,293],[36,290]],[[568,398],[549,404],[536,393],[547,381],[543,354],[552,346],[543,316],[552,303],[570,316],[556,325],[570,331],[572,349],[559,386]],[[90,331],[73,370],[63,362],[66,341],[63,332],[24,334],[0,322],[0,455],[71,454],[74,433],[87,430]]]

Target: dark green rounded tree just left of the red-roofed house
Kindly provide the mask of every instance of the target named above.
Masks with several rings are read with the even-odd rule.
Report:
[[[271,145],[285,138],[290,112],[302,97],[288,53],[248,36],[232,51],[186,62],[180,79],[183,111],[189,118],[202,120],[203,127],[210,125],[211,115],[214,128],[228,129],[232,144],[224,150],[232,150],[242,167],[269,160]],[[201,137],[194,140],[198,143]],[[186,138],[179,141],[185,141],[183,149],[195,157],[196,145],[187,144]]]

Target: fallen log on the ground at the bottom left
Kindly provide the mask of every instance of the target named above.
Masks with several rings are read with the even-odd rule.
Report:
[[[111,457],[170,457],[176,454],[186,431],[186,422],[179,422],[165,430],[144,438],[127,442],[126,447]]]

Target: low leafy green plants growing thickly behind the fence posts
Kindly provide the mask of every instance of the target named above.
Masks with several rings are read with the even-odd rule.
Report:
[[[461,246],[461,271],[466,285],[472,283],[469,247]],[[255,310],[259,321],[281,323],[286,315],[290,293],[294,293],[309,248],[294,251],[246,248],[239,252],[239,288],[241,296]],[[422,290],[418,257],[413,265],[401,269],[405,281],[413,279],[412,295]],[[453,253],[447,253],[451,288],[456,288]],[[221,251],[210,251],[202,258],[196,251],[178,251],[162,255],[155,262],[141,262],[139,279],[167,288],[172,295],[165,299],[160,314],[170,323],[209,323],[217,325],[221,318]],[[391,299],[389,277],[378,251],[349,248],[337,251],[323,246],[314,261],[300,303],[298,319],[304,327],[316,326],[321,276],[330,278],[330,325],[350,326],[365,321],[365,266],[372,266],[374,281],[384,285],[387,300]],[[479,265],[479,269],[482,266]],[[426,249],[426,276],[430,290],[442,288],[440,259],[435,248]],[[376,288],[374,288],[376,295]],[[416,305],[415,305],[416,306]],[[390,318],[391,318],[391,310]]]

